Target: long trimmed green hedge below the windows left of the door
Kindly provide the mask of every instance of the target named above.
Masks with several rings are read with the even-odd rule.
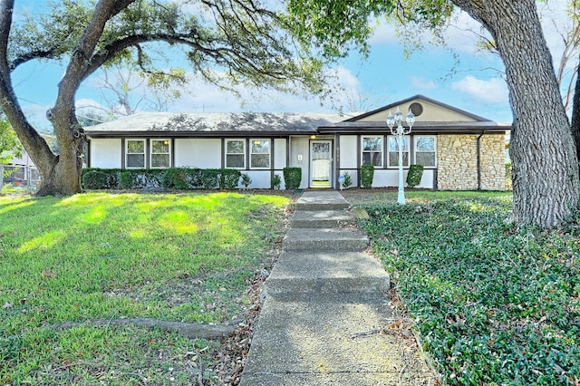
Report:
[[[82,170],[82,187],[87,189],[138,188],[237,188],[238,169],[96,169]]]

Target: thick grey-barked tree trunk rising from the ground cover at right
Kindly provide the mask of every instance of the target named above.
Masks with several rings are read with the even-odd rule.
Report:
[[[555,227],[578,204],[580,184],[575,142],[535,0],[453,2],[488,29],[506,65],[514,113],[514,220]]]

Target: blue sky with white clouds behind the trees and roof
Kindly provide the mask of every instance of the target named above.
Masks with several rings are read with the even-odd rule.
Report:
[[[43,0],[16,0],[15,6],[38,9]],[[553,0],[550,9],[542,8],[546,19],[546,41],[553,51],[556,65],[562,52],[560,37],[554,30],[552,20],[562,25],[565,0]],[[498,122],[510,122],[511,110],[507,98],[507,86],[502,79],[503,64],[496,55],[480,53],[475,49],[478,24],[466,14],[458,14],[449,28],[446,41],[457,54],[459,63],[449,49],[426,44],[420,52],[405,59],[401,38],[394,27],[382,24],[371,40],[372,51],[366,60],[357,54],[337,63],[333,71],[346,90],[336,88],[333,104],[329,101],[304,99],[279,92],[242,91],[244,99],[218,91],[215,87],[199,82],[191,84],[189,92],[176,101],[170,111],[291,111],[335,112],[338,105],[349,111],[349,102],[357,95],[366,100],[359,103],[359,111],[370,110],[394,101],[423,94],[459,109],[473,112]],[[425,34],[425,41],[429,40]],[[30,114],[41,129],[49,124],[43,119],[44,112],[53,105],[56,85],[63,74],[63,64],[30,63],[19,68],[14,76],[14,86],[24,110]],[[77,93],[77,101],[83,105],[103,104],[102,92],[92,81],[83,83]]]

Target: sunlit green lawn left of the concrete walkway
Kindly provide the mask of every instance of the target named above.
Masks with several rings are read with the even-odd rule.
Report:
[[[219,343],[140,327],[244,319],[288,198],[0,197],[0,384],[189,384]],[[59,323],[76,322],[68,329]],[[205,366],[203,365],[205,363]],[[194,377],[194,378],[192,378]]]

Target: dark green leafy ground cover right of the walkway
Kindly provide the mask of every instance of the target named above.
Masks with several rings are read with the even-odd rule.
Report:
[[[542,232],[505,193],[393,198],[362,200],[362,227],[449,384],[580,384],[578,217]]]

